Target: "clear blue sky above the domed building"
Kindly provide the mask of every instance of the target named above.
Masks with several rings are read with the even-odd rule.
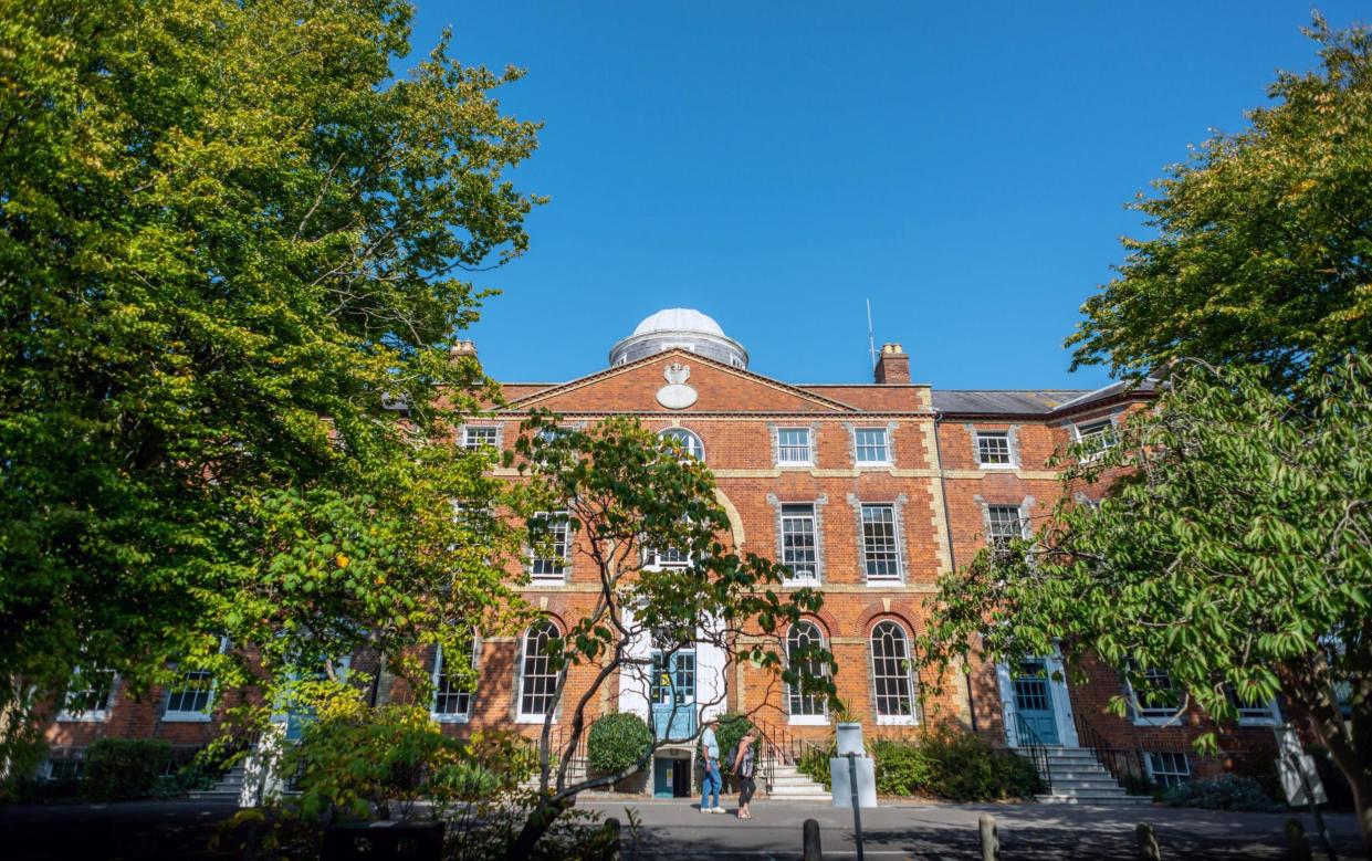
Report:
[[[469,333],[508,381],[600,370],[675,306],[759,373],[867,381],[870,298],[919,381],[1100,385],[1062,340],[1140,233],[1124,203],[1316,64],[1305,1],[418,4],[417,53],[451,25],[546,122],[514,180],[552,203]]]

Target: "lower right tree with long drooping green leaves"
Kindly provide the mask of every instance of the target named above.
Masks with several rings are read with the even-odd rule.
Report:
[[[1272,373],[1179,366],[1118,446],[1078,446],[1032,542],[940,581],[926,659],[1056,644],[1136,690],[1162,670],[1217,721],[1280,694],[1349,779],[1372,849],[1372,361],[1291,396]],[[1077,500],[1107,476],[1099,503]]]

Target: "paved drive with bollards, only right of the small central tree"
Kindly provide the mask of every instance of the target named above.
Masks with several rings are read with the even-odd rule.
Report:
[[[642,818],[641,857],[685,858],[800,858],[801,823],[820,824],[825,860],[856,857],[852,810],[811,802],[753,802],[753,818],[700,813],[682,801],[586,801],[584,808],[617,816],[632,806]],[[1002,858],[1137,858],[1133,829],[1152,824],[1163,861],[1172,858],[1286,858],[1283,824],[1288,814],[1228,813],[1177,808],[1081,808],[1070,805],[915,805],[889,803],[863,810],[866,857],[871,861],[918,858],[980,858],[977,817],[991,813],[1000,831]],[[1302,817],[1306,832],[1313,831]],[[1343,860],[1358,858],[1357,824],[1350,814],[1327,817]],[[628,849],[626,834],[626,850]],[[1316,858],[1323,858],[1314,845]],[[627,851],[626,851],[627,857]]]

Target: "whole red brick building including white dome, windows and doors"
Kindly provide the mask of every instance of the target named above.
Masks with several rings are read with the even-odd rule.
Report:
[[[748,363],[744,345],[709,317],[659,311],[613,345],[605,370],[563,383],[504,384],[506,406],[471,421],[457,443],[506,446],[534,409],[569,422],[634,415],[676,436],[713,472],[733,543],[788,563],[796,585],[823,591],[823,610],[786,638],[818,639],[834,654],[838,695],[868,735],[951,721],[1011,747],[1029,738],[1050,747],[1111,747],[1132,751],[1163,783],[1221,766],[1198,761],[1188,747],[1202,731],[1194,714],[1179,720],[1176,709],[1148,707],[1147,698],[1133,698],[1129,718],[1107,714],[1111,696],[1131,694],[1107,668],[1088,666],[1089,681],[1073,684],[1055,655],[1043,655],[1025,668],[974,666],[966,677],[933,684],[907,661],[937,577],[969,562],[988,539],[1019,535],[1050,511],[1061,492],[1050,457],[1084,436],[1109,440],[1120,415],[1151,398],[1146,387],[936,389],[912,381],[900,344],[882,347],[870,383],[781,381]],[[434,659],[432,713],[453,732],[513,724],[532,733],[543,723],[553,679],[539,658],[542,643],[584,613],[597,588],[575,533],[569,547],[565,539],[556,543],[561,558],[531,554],[523,587],[547,620],[520,636],[480,639],[476,690],[449,684],[442,659]],[[823,703],[792,695],[746,664],[726,673],[718,650],[678,654],[663,669],[687,702],[708,703],[705,713],[749,712],[772,738],[818,740],[830,732]],[[568,695],[576,696],[579,686],[584,690],[573,675]],[[659,690],[613,680],[594,712],[661,720],[659,699]],[[133,702],[119,696],[117,680],[91,686],[69,696],[48,731],[55,768],[100,735],[202,744],[220,705],[178,691]],[[1227,728],[1222,744],[1269,744],[1264,727],[1277,720],[1276,705],[1254,705],[1244,714],[1251,727]],[[687,729],[700,717],[690,709]],[[672,735],[679,731],[674,725]],[[665,768],[671,755],[654,768]]]

